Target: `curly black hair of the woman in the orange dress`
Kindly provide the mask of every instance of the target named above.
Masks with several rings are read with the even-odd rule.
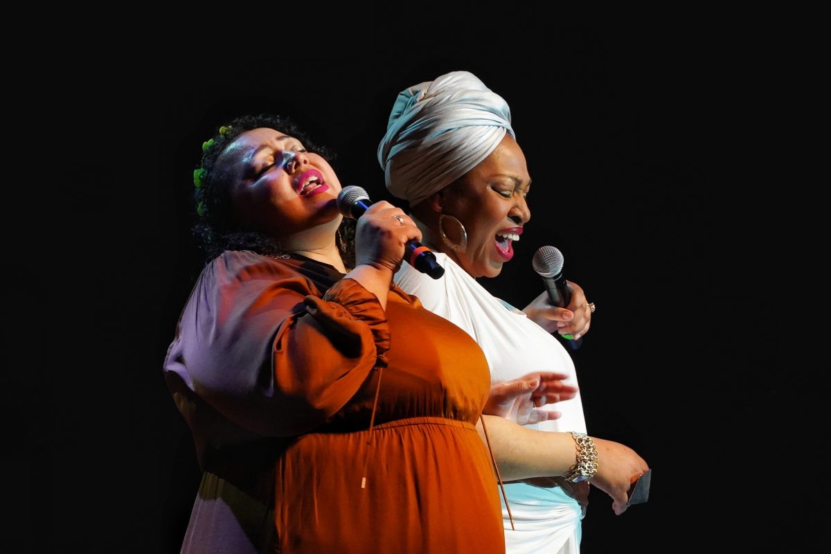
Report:
[[[205,262],[209,262],[226,250],[252,250],[267,256],[276,256],[285,252],[273,238],[246,227],[235,217],[234,206],[229,195],[228,174],[217,168],[216,164],[219,155],[234,139],[248,130],[259,127],[281,130],[300,140],[310,152],[315,152],[327,160],[333,158],[329,150],[315,145],[292,120],[281,115],[240,115],[220,127],[216,135],[205,142],[202,164],[194,172],[194,181],[198,181],[198,184],[194,190],[196,223],[193,232],[199,240],[199,247],[207,256]],[[197,173],[199,173],[198,179]],[[338,243],[342,245],[339,248],[342,251],[343,262],[347,264],[347,267],[352,267],[355,222],[344,218],[337,233]]]

